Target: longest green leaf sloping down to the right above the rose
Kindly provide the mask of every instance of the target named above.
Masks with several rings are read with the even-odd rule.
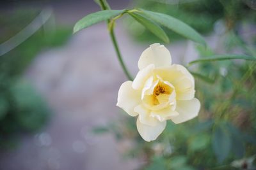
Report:
[[[196,32],[195,29],[185,24],[181,20],[178,20],[177,18],[171,17],[170,15],[166,15],[163,13],[157,13],[142,9],[140,10],[143,11],[143,14],[145,14],[148,18],[154,20],[155,22],[164,25],[165,27],[171,29],[177,34],[180,34],[186,38],[189,38],[197,43],[206,46],[204,38],[202,38],[202,36],[198,32]]]

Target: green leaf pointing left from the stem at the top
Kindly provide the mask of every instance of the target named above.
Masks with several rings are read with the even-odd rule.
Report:
[[[80,31],[81,29],[85,29],[86,27],[90,27],[93,24],[97,24],[98,22],[102,22],[104,20],[116,17],[117,15],[120,15],[122,12],[124,12],[124,10],[105,10],[97,11],[95,13],[86,15],[84,18],[82,18],[76,23],[73,29],[73,33]]]

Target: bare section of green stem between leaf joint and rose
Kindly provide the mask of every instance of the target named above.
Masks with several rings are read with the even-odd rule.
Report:
[[[120,53],[120,50],[119,50],[119,48],[118,48],[118,44],[117,44],[117,41],[116,41],[116,37],[115,37],[114,30],[111,29],[111,30],[109,31],[109,34],[110,34],[112,43],[113,43],[113,45],[114,45],[114,47],[115,47],[116,55],[117,55],[117,58],[118,58],[118,60],[119,60],[119,62],[120,62],[120,64],[121,64],[121,66],[122,66],[122,69],[124,70],[124,73],[125,73],[125,75],[127,76],[127,78],[132,81],[133,78],[132,78],[131,74],[129,73],[129,71],[127,70],[127,68],[126,68],[126,66],[125,66],[125,64],[124,64],[124,60],[122,59],[122,55],[121,55],[121,53]]]

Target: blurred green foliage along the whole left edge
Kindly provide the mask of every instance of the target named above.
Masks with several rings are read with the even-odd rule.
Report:
[[[0,43],[12,38],[38,15],[37,10],[15,10],[0,16],[3,36]],[[3,27],[2,27],[3,25]],[[28,80],[22,78],[31,60],[45,48],[62,45],[71,29],[39,29],[26,41],[0,56],[0,148],[13,148],[20,134],[36,132],[50,118],[47,103]]]

